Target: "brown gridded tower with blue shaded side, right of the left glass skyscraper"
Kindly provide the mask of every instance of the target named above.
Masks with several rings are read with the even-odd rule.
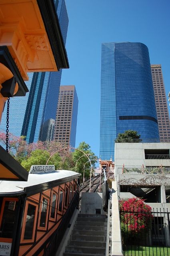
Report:
[[[78,97],[74,85],[60,86],[54,140],[75,146]]]

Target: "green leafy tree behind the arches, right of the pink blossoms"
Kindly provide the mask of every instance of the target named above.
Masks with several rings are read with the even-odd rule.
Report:
[[[80,142],[78,149],[82,150],[85,154],[88,155],[88,157],[91,160],[92,166],[94,167],[95,163],[97,162],[97,160],[96,160],[97,156],[95,156],[94,152],[92,152],[89,144],[87,144],[84,141]],[[90,162],[87,162],[88,161],[87,156],[85,156],[79,150],[75,150],[72,153],[72,160],[74,163],[74,167],[72,168],[72,170],[82,174],[81,180],[83,180],[83,173],[84,173],[84,177],[86,179],[90,178]],[[76,162],[77,162],[77,164],[76,164]],[[84,164],[85,164],[85,167],[84,167]]]

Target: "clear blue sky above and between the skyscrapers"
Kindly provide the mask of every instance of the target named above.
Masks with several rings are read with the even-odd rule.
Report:
[[[170,0],[65,0],[69,17],[66,50],[69,70],[61,85],[76,86],[76,146],[90,144],[99,156],[102,42],[142,42],[151,64],[161,64],[170,91]]]

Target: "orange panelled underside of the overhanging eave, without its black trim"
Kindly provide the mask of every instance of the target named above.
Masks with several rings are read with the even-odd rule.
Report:
[[[57,71],[36,0],[0,0],[0,46],[4,45],[24,80],[27,72]]]

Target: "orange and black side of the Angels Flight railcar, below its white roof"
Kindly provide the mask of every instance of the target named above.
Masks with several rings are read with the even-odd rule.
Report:
[[[9,242],[12,244],[13,249],[10,255],[43,255],[44,248],[49,244],[49,242],[46,241],[48,241],[48,238],[57,230],[64,214],[77,193],[78,180],[76,179],[26,196],[24,205],[22,206],[22,214],[20,213],[20,211],[22,211],[20,204],[22,198],[4,197],[0,210],[0,226],[2,235],[5,234],[5,236],[8,236],[10,234],[10,238],[0,237],[0,242]],[[54,197],[54,194],[56,197]],[[45,207],[43,207],[44,199],[46,200],[44,204]],[[2,228],[2,222],[5,223],[3,216],[4,213],[6,213],[6,202],[9,202],[11,210],[13,207],[13,210],[16,211],[15,222],[18,223],[16,227],[18,231],[15,235],[12,235],[11,232],[9,233],[8,231],[5,233]],[[14,203],[12,204],[12,202]],[[16,202],[18,202],[17,206],[15,205]],[[6,222],[6,225],[7,224]],[[13,230],[13,232],[15,231]]]

